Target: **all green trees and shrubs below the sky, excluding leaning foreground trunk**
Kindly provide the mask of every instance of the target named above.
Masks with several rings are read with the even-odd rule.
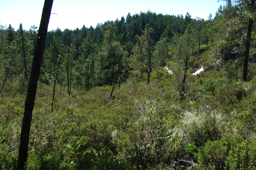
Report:
[[[48,31],[25,169],[256,169],[255,10]],[[0,25],[0,169],[17,169],[37,38]]]

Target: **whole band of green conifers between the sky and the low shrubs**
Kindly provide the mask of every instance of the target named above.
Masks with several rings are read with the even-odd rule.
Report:
[[[242,62],[245,56],[243,80],[246,81],[248,61],[254,60],[249,57],[248,50],[249,47],[254,47],[254,36],[252,38],[249,34],[254,27],[248,27],[250,29],[246,30],[244,29],[246,24],[243,24],[244,20],[248,20],[246,18],[250,18],[248,12],[244,11],[250,10],[254,12],[254,6],[245,4],[243,1],[233,3],[227,1],[226,6],[220,6],[214,18],[210,14],[206,21],[202,18],[193,19],[188,12],[183,17],[183,15],[163,15],[147,11],[134,15],[128,13],[126,18],[122,16],[120,20],[97,24],[96,28],[82,26],[81,29],[64,29],[63,31],[57,28],[47,33],[40,81],[49,83],[47,74],[55,73],[57,59],[61,55],[63,57],[60,60],[57,83],[63,86],[63,90],[67,86],[69,95],[71,95],[71,87],[79,92],[79,89],[89,90],[105,84],[112,85],[115,77],[125,80],[131,70],[137,70],[140,67],[144,67],[144,72],[147,70],[145,73],[148,75],[149,83],[152,69],[158,66],[164,68],[168,61],[179,63],[178,68],[184,67],[187,63],[186,69],[197,69],[200,65],[204,65],[201,53],[209,49],[213,57],[204,60],[221,59],[224,65],[228,61]],[[254,18],[251,17],[248,23],[250,26],[252,26],[252,20]],[[5,55],[2,62],[5,65],[5,72],[2,76],[1,91],[11,72],[20,76],[15,82],[17,84],[15,87],[22,94],[25,92],[24,85],[30,74],[28,70],[31,67],[37,27],[31,26],[28,31],[19,29],[15,32],[10,24],[8,28],[1,26],[0,31],[1,55]],[[240,40],[243,39],[243,33],[247,31],[246,41]],[[150,32],[150,41],[152,41],[148,53],[143,48],[139,50],[139,44],[145,43],[142,39],[146,32]],[[245,53],[242,52],[243,48]],[[232,49],[239,49],[239,51],[234,52]],[[13,54],[20,56],[15,58],[16,62]],[[143,55],[150,60],[148,64],[140,61],[141,66],[138,67]],[[183,55],[187,55],[185,56],[185,58],[188,57],[187,62]],[[141,57],[136,59],[134,56]],[[18,64],[21,63],[21,58],[23,58],[23,64]],[[145,69],[147,67],[148,69]],[[213,68],[209,67],[209,69]],[[142,75],[143,69],[139,70]]]

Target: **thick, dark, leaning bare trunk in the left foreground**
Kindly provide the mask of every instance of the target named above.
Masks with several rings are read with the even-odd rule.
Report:
[[[37,83],[40,75],[40,68],[42,64],[42,57],[44,52],[44,45],[46,40],[46,34],[51,15],[51,7],[53,0],[45,0],[44,8],[42,11],[42,17],[40,21],[37,43],[34,52],[34,58],[32,62],[32,69],[30,74],[30,81],[28,83],[27,96],[25,101],[24,115],[22,119],[22,126],[20,132],[20,145],[18,154],[18,170],[24,170],[24,165],[28,158],[28,140],[30,133],[30,126],[32,120],[32,112],[34,108],[34,102],[36,98]]]

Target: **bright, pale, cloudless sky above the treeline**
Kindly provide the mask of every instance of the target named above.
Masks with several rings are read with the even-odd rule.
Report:
[[[54,0],[48,31],[61,30],[65,28],[82,28],[83,25],[95,28],[97,23],[102,24],[107,20],[120,20],[121,16],[126,18],[128,12],[135,13],[152,12],[162,14],[191,14],[192,18],[200,17],[208,19],[210,13],[215,16],[218,7],[223,2],[217,0]],[[1,2],[0,5],[0,24],[9,25],[18,29],[22,23],[25,30],[30,26],[39,27],[44,0],[8,0]]]

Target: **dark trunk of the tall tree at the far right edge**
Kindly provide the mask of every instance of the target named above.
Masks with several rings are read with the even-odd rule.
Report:
[[[254,3],[255,3],[255,0],[251,0],[252,12],[254,12]],[[251,43],[252,26],[253,26],[253,20],[252,18],[250,18],[249,24],[248,24],[247,38],[245,43],[245,54],[244,54],[244,63],[243,63],[243,81],[247,80],[248,59],[249,59],[249,50],[250,50],[250,43]]]

